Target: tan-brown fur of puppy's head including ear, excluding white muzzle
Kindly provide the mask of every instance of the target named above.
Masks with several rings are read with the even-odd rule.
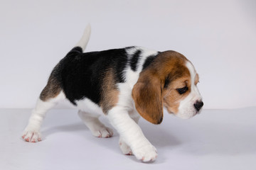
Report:
[[[151,123],[159,124],[163,118],[163,105],[170,113],[177,113],[180,101],[191,89],[191,79],[186,67],[186,57],[178,52],[161,52],[153,63],[139,75],[132,90],[132,97],[137,111]],[[164,87],[168,79],[169,84]],[[188,86],[185,94],[178,94],[176,89]]]

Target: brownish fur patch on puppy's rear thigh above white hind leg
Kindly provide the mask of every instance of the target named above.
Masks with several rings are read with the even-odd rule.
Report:
[[[40,94],[40,99],[42,101],[48,101],[50,98],[55,98],[55,96],[58,96],[58,94],[60,94],[60,91],[61,88],[59,82],[57,81],[57,79],[55,79],[55,77],[53,77],[53,75],[50,75],[46,87]]]

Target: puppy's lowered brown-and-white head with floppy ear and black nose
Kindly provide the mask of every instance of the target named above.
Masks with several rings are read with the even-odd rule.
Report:
[[[161,123],[164,106],[179,118],[192,118],[203,106],[198,81],[196,69],[186,57],[174,51],[161,52],[139,74],[132,89],[135,107],[154,124]]]

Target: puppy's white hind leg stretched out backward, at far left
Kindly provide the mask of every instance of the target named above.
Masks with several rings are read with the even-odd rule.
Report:
[[[42,101],[41,98],[38,98],[36,107],[33,109],[31,117],[28,120],[28,125],[23,131],[23,140],[26,142],[39,142],[42,140],[40,128],[43,119],[46,117],[46,112],[50,108],[53,108],[63,97],[63,93],[60,93],[55,98],[50,98],[47,101]]]

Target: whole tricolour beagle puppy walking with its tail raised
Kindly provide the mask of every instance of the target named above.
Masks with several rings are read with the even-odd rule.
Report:
[[[139,118],[160,124],[164,107],[184,119],[200,113],[203,102],[196,86],[196,69],[175,51],[125,47],[83,53],[89,38],[87,26],[78,44],[54,67],[23,132],[23,140],[41,141],[46,111],[67,99],[78,108],[78,115],[92,135],[113,135],[99,120],[100,115],[106,115],[119,132],[123,154],[134,154],[143,162],[154,161],[156,148],[139,128]]]

